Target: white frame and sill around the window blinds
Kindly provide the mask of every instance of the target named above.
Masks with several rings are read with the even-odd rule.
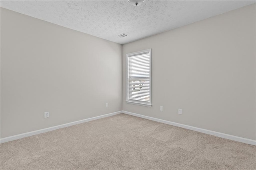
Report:
[[[136,101],[136,100],[129,100],[128,99],[128,57],[133,57],[133,56],[136,56],[136,55],[141,55],[143,53],[149,53],[149,70],[150,70],[150,75],[149,75],[149,97],[150,97],[150,101],[149,102],[143,102],[143,101]],[[151,70],[152,70],[152,67],[151,67],[151,48],[150,49],[145,49],[145,50],[142,50],[142,51],[136,51],[136,52],[133,52],[133,53],[127,53],[126,54],[126,103],[129,103],[129,104],[134,104],[134,105],[141,105],[141,106],[146,106],[146,107],[151,107],[152,106],[152,78],[151,78]]]

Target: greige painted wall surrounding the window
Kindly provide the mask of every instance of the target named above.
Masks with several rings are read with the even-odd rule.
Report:
[[[253,4],[123,45],[123,110],[255,140],[255,16]],[[149,48],[153,105],[127,104],[125,55]]]

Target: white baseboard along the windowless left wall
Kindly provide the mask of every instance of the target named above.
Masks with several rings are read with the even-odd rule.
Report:
[[[122,113],[122,111],[109,113],[109,114],[106,114],[106,115],[100,115],[100,116],[96,116],[96,117],[92,117],[92,118],[88,118],[88,119],[83,119],[83,120],[80,120],[80,121],[70,122],[70,123],[66,123],[66,124],[58,125],[58,126],[54,126],[54,127],[43,128],[43,129],[35,130],[35,131],[32,131],[32,132],[17,134],[17,135],[9,136],[9,137],[6,137],[6,138],[1,138],[0,143],[4,143],[4,142],[16,140],[16,139],[20,139],[20,138],[24,138],[24,137],[28,137],[28,136],[33,136],[35,134],[49,132],[49,131],[56,130],[56,129],[59,129],[59,128],[70,127],[70,126],[77,125],[77,124],[80,124],[80,123],[94,121],[96,119],[101,119],[101,118],[104,118],[104,117],[110,117],[110,116],[118,115],[120,113]]]

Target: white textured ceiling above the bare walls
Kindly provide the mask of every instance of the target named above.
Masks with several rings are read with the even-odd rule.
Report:
[[[255,1],[146,0],[1,1],[7,8],[60,26],[124,44],[200,21]],[[124,38],[117,37],[125,33]]]

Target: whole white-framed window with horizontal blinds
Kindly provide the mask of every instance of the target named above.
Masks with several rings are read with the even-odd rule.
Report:
[[[126,103],[151,107],[151,49],[126,54]]]

